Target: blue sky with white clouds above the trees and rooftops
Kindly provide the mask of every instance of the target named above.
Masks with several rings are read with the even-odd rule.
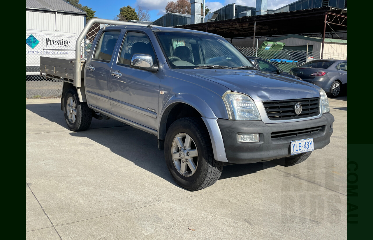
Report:
[[[91,7],[93,11],[96,11],[96,17],[103,19],[114,19],[119,13],[119,9],[123,6],[131,6],[137,10],[138,6],[143,9],[149,10],[150,21],[153,22],[159,19],[166,13],[164,8],[167,2],[171,0],[79,0],[79,3],[83,6]],[[173,0],[176,1],[176,0]],[[230,3],[236,3],[242,6],[255,7],[256,0],[205,0],[206,6],[211,9],[211,12],[220,9]],[[278,9],[279,7],[288,5],[297,0],[268,0],[268,9]]]

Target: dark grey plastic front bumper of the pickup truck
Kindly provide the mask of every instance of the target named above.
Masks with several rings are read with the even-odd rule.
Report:
[[[316,119],[273,124],[265,124],[262,121],[217,120],[229,163],[256,163],[288,157],[290,156],[291,141],[306,138],[313,138],[315,150],[323,148],[330,142],[333,122],[334,117],[330,113],[324,113]],[[322,128],[315,132],[302,132],[304,129],[317,127]],[[301,134],[286,136],[286,132],[296,131],[301,132]],[[283,132],[285,137],[278,137],[279,135],[273,134],[279,132]],[[260,142],[239,143],[237,140],[238,133],[259,133]]]

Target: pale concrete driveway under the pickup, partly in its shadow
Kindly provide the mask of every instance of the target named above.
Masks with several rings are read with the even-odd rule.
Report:
[[[347,239],[347,97],[331,142],[292,167],[225,166],[175,185],[157,138],[113,119],[66,128],[60,99],[26,99],[26,239]]]

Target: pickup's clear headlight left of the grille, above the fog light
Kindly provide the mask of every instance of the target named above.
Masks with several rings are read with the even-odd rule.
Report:
[[[223,100],[227,108],[229,120],[260,120],[259,111],[251,97],[235,92],[226,92]]]

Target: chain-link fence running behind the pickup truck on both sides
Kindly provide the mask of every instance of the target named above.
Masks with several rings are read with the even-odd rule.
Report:
[[[96,23],[88,31],[80,44],[82,59],[87,59],[92,42],[100,28],[104,26],[109,25]],[[75,43],[77,38],[78,34],[74,33],[26,31],[26,99],[61,97],[63,82],[40,76],[40,56],[75,59]],[[245,56],[256,56],[269,60],[284,72],[289,72],[292,67],[297,67],[305,63],[307,56],[313,56],[314,59],[320,59],[321,57],[320,52],[316,51],[308,51],[307,54],[306,51],[295,50],[266,51],[250,47],[237,48]],[[216,50],[212,50],[210,55],[214,56]],[[288,61],[284,62],[281,59]],[[347,60],[347,54],[324,53],[323,59]]]

